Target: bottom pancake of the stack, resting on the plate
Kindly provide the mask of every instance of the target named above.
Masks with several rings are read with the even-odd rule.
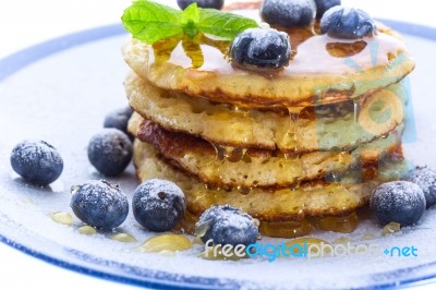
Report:
[[[376,174],[378,178],[364,182],[356,171],[343,177],[342,183],[318,181],[295,189],[252,189],[249,193],[241,194],[237,190],[207,189],[195,177],[174,169],[159,158],[152,145],[137,140],[134,143],[134,164],[142,182],[159,178],[178,184],[185,194],[187,210],[194,216],[201,215],[211,205],[230,204],[261,221],[270,222],[344,215],[366,205],[377,184],[396,180],[404,173],[401,162],[389,161],[380,166],[380,172]]]

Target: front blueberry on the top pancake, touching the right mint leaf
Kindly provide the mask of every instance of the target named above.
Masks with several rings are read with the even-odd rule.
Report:
[[[291,44],[286,33],[250,28],[234,38],[230,56],[237,67],[280,69],[289,62]]]

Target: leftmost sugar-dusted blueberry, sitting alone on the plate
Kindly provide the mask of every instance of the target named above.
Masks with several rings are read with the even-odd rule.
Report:
[[[11,154],[13,170],[27,182],[48,185],[63,170],[63,160],[58,150],[44,141],[23,141]]]

